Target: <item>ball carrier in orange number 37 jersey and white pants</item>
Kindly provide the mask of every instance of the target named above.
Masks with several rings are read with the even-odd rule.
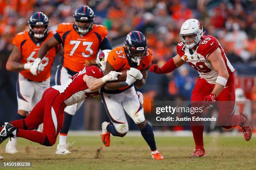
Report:
[[[126,36],[125,46],[110,51],[105,75],[111,71],[129,70],[126,81],[106,83],[101,89],[101,99],[113,123],[102,123],[101,137],[104,145],[109,146],[110,133],[113,136],[125,136],[128,132],[126,112],[140,128],[141,135],[151,149],[152,158],[162,160],[163,156],[156,149],[152,127],[145,120],[143,106],[134,88],[134,85],[138,88],[145,85],[152,60],[153,53],[148,48],[146,37],[139,31],[132,31]]]

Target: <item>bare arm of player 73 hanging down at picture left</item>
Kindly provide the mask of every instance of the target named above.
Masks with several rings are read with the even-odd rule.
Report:
[[[47,40],[42,47],[39,49],[37,58],[42,59],[51,48],[55,47],[56,45],[59,45],[60,42],[56,40],[55,37],[51,37],[49,40]]]

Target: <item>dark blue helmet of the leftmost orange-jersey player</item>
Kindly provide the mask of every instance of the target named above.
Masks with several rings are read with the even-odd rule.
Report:
[[[42,31],[34,31],[34,26],[37,25],[44,25],[45,30]],[[29,26],[29,33],[36,38],[43,38],[48,35],[48,28],[49,28],[49,19],[48,17],[42,12],[36,12],[28,20]]]

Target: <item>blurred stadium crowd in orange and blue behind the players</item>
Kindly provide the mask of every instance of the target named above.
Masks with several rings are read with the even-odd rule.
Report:
[[[59,23],[73,22],[74,11],[82,5],[92,7],[96,15],[95,23],[108,28],[108,38],[113,47],[122,44],[128,32],[143,32],[149,48],[154,53],[153,62],[159,65],[176,55],[182,23],[189,18],[200,20],[205,35],[218,39],[236,68],[236,87],[240,90],[239,94],[243,95],[243,99],[256,101],[254,0],[0,0],[1,122],[11,120],[17,110],[17,76],[16,73],[7,72],[5,69],[13,48],[11,42],[15,33],[23,31],[28,18],[38,11],[49,17],[50,30],[55,31]],[[60,57],[56,57],[52,70],[52,85],[59,62]],[[166,75],[149,73],[147,84],[142,89],[145,112],[150,113],[152,100],[190,100],[197,77],[197,72],[188,65]],[[100,122],[107,119],[103,107],[98,110],[91,109],[100,108],[92,107],[102,106],[100,101],[92,101],[85,102],[77,116],[74,116],[76,123],[72,124],[73,129],[100,129]],[[252,123],[256,121],[254,105],[251,105]]]

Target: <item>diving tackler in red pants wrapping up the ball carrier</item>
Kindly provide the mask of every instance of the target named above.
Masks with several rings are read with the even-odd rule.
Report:
[[[104,50],[107,60],[108,52]],[[104,61],[102,61],[104,62]],[[103,77],[105,64],[98,67],[92,60],[65,84],[48,88],[41,100],[25,118],[7,123],[0,128],[0,143],[8,137],[22,137],[45,146],[56,142],[64,122],[64,109],[89,97],[100,95],[99,89],[108,81],[118,80],[120,72],[111,71]],[[43,132],[33,130],[44,122]]]

